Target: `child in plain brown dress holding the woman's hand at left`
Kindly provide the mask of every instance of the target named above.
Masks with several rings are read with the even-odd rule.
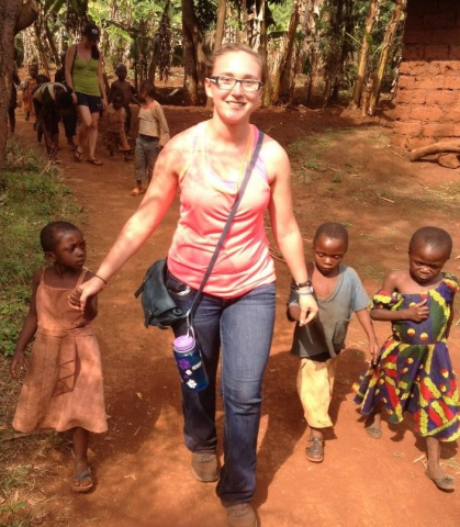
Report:
[[[86,242],[78,227],[53,222],[40,237],[51,266],[33,276],[29,314],[11,362],[14,379],[26,371],[13,427],[23,433],[72,430],[72,489],[86,492],[93,485],[88,467],[89,433],[106,430],[101,357],[91,325],[98,305],[92,298],[85,311],[78,312],[71,309],[68,295],[94,274],[83,268]],[[29,362],[24,350],[34,335]]]

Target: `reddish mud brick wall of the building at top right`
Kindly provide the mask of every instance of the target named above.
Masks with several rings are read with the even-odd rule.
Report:
[[[408,0],[393,143],[460,137],[460,0]]]

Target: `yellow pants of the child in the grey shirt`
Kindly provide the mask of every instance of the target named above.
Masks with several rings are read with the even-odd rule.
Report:
[[[333,396],[334,378],[338,357],[316,362],[301,359],[298,372],[298,392],[305,419],[313,428],[333,426],[328,411]]]

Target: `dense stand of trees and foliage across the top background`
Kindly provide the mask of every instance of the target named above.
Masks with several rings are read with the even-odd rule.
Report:
[[[268,57],[272,83],[267,85],[266,91],[271,93],[265,103],[292,102],[299,86],[306,89],[302,102],[307,103],[312,91],[321,90],[327,103],[337,101],[340,92],[351,93],[360,59],[366,66],[363,87],[375,83],[395,4],[405,8],[406,0],[45,0],[34,27],[18,37],[18,46],[25,61],[37,58],[46,71],[47,64],[57,63],[59,53],[79,38],[83,24],[92,20],[102,27],[101,48],[109,71],[123,61],[134,70],[137,83],[144,78],[167,79],[172,66],[184,66],[186,77],[197,75],[199,89],[202,71],[197,61],[201,54],[193,49],[186,55],[184,49],[203,46],[205,55],[220,44],[215,37],[222,2],[223,40],[246,42]],[[184,42],[184,27],[190,25],[183,20],[186,5],[195,19],[192,43]],[[372,5],[377,9],[368,32]],[[379,74],[379,88],[389,89],[395,82],[403,19],[396,21],[396,36]],[[363,43],[366,57],[360,57]],[[184,88],[190,89],[187,81]]]

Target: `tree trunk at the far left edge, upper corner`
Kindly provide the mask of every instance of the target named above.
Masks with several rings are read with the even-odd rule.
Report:
[[[0,189],[5,189],[5,179],[3,173],[4,156],[7,152],[8,137],[8,105],[10,103],[12,75],[14,64],[14,35],[18,31],[26,27],[34,21],[32,14],[26,15],[26,11],[32,5],[27,2],[23,5],[22,0],[2,0],[0,2]],[[31,13],[33,10],[31,11]],[[22,14],[22,15],[21,15]],[[35,11],[35,18],[38,13]],[[19,25],[19,22],[21,24]],[[16,31],[16,29],[19,30]]]

